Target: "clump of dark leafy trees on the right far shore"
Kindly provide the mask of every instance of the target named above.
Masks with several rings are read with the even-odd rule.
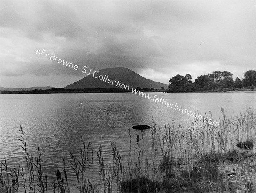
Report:
[[[228,89],[256,87],[256,71],[249,70],[244,73],[244,79],[238,77],[233,80],[233,74],[228,71],[214,71],[197,77],[192,82],[190,74],[182,76],[177,74],[169,80],[167,92],[194,92],[194,91],[227,91]]]

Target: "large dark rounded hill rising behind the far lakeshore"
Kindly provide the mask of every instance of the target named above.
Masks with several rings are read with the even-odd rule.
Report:
[[[73,84],[67,85],[65,89],[76,89],[76,88],[118,88],[115,85],[109,84],[108,82],[104,82],[98,78],[93,77],[93,72],[87,77],[74,82]],[[88,71],[87,71],[88,73]],[[121,81],[121,84],[127,85],[131,88],[155,88],[161,89],[163,86],[165,89],[169,86],[167,84],[163,84],[160,82],[155,82],[150,79],[146,79],[139,74],[135,73],[134,71],[124,68],[124,67],[116,67],[116,68],[106,68],[99,70],[99,73],[96,73],[95,76],[99,77],[102,75],[108,76],[112,81],[115,80]]]

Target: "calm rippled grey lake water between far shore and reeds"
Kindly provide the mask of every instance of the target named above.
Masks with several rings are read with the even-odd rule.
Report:
[[[209,115],[211,111],[216,121],[222,116],[221,108],[227,116],[249,107],[256,111],[256,93],[149,94],[157,94],[166,102],[202,115],[205,112]],[[184,127],[193,121],[189,115],[132,93],[0,95],[0,162],[6,157],[10,165],[22,165],[23,154],[17,140],[20,125],[25,129],[30,152],[35,153],[36,145],[40,145],[44,169],[49,176],[61,166],[62,157],[69,158],[70,152],[79,151],[80,136],[92,142],[95,149],[102,144],[104,157],[109,162],[111,141],[116,143],[125,160],[134,160],[136,133],[140,132],[131,129],[130,152],[127,127],[151,125],[152,117],[159,126],[171,123],[172,118],[175,124]],[[149,150],[150,131],[145,131],[143,137],[143,156],[157,161],[157,155]],[[95,177],[97,171],[89,171],[90,177]]]

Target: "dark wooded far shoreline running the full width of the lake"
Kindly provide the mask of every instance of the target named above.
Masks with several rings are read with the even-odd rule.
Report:
[[[197,77],[192,82],[190,74],[182,76],[177,74],[169,80],[169,86],[165,88],[140,88],[137,91],[145,92],[221,92],[230,90],[255,89],[256,88],[256,71],[249,70],[244,73],[244,79],[238,77],[233,80],[233,74],[228,71],[214,71],[212,74],[206,74]],[[44,93],[101,93],[101,92],[124,92],[121,88],[82,88],[82,89],[64,89],[52,88],[47,90],[31,90],[31,91],[0,91],[0,94],[44,94]],[[125,91],[128,92],[128,91]]]

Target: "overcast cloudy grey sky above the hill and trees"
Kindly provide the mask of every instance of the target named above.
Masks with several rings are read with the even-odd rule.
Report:
[[[0,86],[65,87],[83,66],[126,67],[166,84],[213,71],[242,79],[256,69],[256,2],[0,0]]]

